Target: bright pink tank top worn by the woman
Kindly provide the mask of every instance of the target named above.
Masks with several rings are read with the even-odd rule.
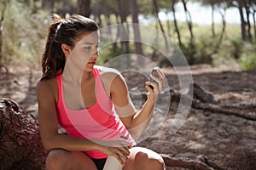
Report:
[[[59,124],[69,136],[76,138],[110,141],[125,137],[131,145],[135,145],[136,142],[132,139],[123,122],[119,120],[114,111],[113,102],[105,92],[100,70],[95,67],[93,74],[96,79],[96,104],[79,111],[71,110],[65,104],[62,77],[61,75],[57,77],[59,97],[56,112]],[[100,150],[90,150],[85,151],[85,153],[96,159],[108,157]]]

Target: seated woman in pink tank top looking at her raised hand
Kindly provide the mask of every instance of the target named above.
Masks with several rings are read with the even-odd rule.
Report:
[[[96,23],[77,14],[67,19],[55,14],[54,18],[38,82],[39,127],[49,150],[46,169],[102,169],[108,156],[114,156],[123,169],[165,169],[160,155],[132,147],[136,145],[132,136],[143,133],[149,122],[163,73],[158,70],[159,77],[151,75],[156,82],[145,82],[148,100],[135,111],[124,78],[95,65],[99,57]],[[59,125],[67,134],[58,133]]]

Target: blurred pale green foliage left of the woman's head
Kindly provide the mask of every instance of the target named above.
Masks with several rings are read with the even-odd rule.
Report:
[[[45,16],[49,14],[20,1],[10,1],[3,20],[3,62],[38,66],[43,51],[43,28],[47,28]]]

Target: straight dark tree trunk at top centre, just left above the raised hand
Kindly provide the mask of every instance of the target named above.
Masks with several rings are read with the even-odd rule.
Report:
[[[139,55],[143,55],[143,47],[142,47],[142,41],[141,41],[141,33],[138,26],[138,7],[137,7],[137,0],[131,0],[131,17],[132,22],[134,23],[132,25],[133,32],[134,32],[134,38],[135,38],[135,49],[136,53]]]

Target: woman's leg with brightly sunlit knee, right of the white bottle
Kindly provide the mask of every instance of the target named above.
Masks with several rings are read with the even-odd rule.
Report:
[[[165,162],[162,157],[154,152],[142,147],[131,148],[131,154],[125,161],[124,170],[152,169],[165,170]]]

